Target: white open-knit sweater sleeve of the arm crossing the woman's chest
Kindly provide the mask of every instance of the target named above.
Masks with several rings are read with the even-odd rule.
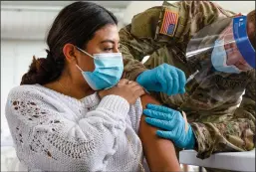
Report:
[[[105,170],[126,129],[128,101],[108,95],[77,122],[55,101],[22,86],[9,93],[6,117],[18,158],[43,171]]]

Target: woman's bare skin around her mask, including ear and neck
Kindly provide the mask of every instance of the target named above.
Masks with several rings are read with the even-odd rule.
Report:
[[[95,33],[86,48],[80,47],[80,49],[92,56],[101,53],[119,53],[119,42],[120,36],[117,25],[106,25]],[[76,46],[72,44],[64,46],[63,52],[68,62],[66,69],[72,76],[73,83],[78,86],[85,86],[87,83],[79,68],[83,72],[94,72],[94,59],[76,48]]]

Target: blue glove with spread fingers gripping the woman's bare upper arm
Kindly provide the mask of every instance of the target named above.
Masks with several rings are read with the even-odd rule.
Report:
[[[195,136],[189,123],[185,131],[185,120],[179,111],[162,105],[147,104],[143,110],[145,121],[153,126],[165,130],[157,130],[156,134],[174,142],[179,148],[193,149]]]

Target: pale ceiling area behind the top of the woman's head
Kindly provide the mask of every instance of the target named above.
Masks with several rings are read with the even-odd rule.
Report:
[[[58,12],[75,1],[1,1],[1,39],[42,40]],[[130,1],[91,1],[123,21]]]

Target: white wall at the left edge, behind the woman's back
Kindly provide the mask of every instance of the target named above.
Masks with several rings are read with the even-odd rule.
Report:
[[[5,103],[10,89],[19,86],[28,71],[32,57],[46,57],[44,41],[1,40],[1,141],[9,136],[5,118]]]

